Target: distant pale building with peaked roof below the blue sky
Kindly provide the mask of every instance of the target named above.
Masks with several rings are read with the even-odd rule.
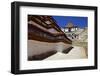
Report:
[[[74,25],[73,23],[69,22],[66,27],[62,28],[62,31],[66,34],[66,36],[71,39],[72,41],[75,40],[85,40],[87,39],[87,27],[80,28],[79,26]],[[83,34],[85,33],[85,34]],[[82,38],[85,37],[85,38]]]

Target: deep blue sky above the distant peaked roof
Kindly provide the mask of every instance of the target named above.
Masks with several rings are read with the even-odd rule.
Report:
[[[78,25],[80,28],[88,26],[87,17],[75,17],[75,16],[52,16],[60,27],[65,27],[69,22],[74,25]]]

